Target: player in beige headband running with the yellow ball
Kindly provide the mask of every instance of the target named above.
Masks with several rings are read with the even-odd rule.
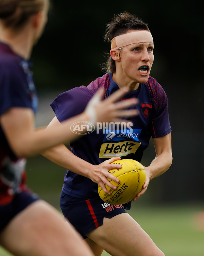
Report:
[[[139,99],[139,104],[132,107],[139,111],[138,116],[130,118],[132,131],[124,130],[122,124],[120,127],[98,124],[97,131],[70,143],[71,152],[61,145],[45,152],[44,156],[68,169],[61,193],[61,209],[95,255],[101,255],[104,249],[117,256],[164,256],[125,212],[124,208],[130,210],[131,201],[111,207],[98,195],[98,184],[105,193],[108,191],[104,184],[116,189],[106,177],[119,182],[108,173],[112,169],[108,162],[120,158],[140,162],[151,137],[156,157],[145,167],[145,184],[133,201],[145,193],[150,180],[167,171],[172,162],[168,100],[163,88],[150,76],[154,43],[148,26],[129,13],[115,15],[107,24],[105,39],[112,43],[107,73],[87,87],[76,87],[59,95],[51,103],[56,117],[48,129],[81,113],[98,88],[104,87],[105,98],[108,98],[118,88],[128,86],[128,93],[121,101],[132,97]]]

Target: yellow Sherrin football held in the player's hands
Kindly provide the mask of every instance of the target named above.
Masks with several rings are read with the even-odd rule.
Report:
[[[111,195],[108,195],[98,185],[98,193],[100,198],[106,203],[113,205],[124,204],[131,201],[141,191],[146,179],[145,169],[141,163],[133,159],[121,159],[112,163],[122,166],[121,169],[109,171],[120,180],[119,183],[107,178],[117,189],[114,190],[105,185],[111,193]]]

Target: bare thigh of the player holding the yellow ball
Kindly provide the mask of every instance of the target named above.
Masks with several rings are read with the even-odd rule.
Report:
[[[104,218],[103,225],[86,236],[113,256],[164,256],[128,213]]]

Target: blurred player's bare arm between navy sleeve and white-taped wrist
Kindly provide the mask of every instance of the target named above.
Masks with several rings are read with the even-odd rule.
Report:
[[[78,135],[70,130],[70,126],[82,120],[86,120],[83,113],[47,131],[45,128],[34,128],[34,114],[29,108],[12,108],[0,116],[8,143],[19,157],[32,156],[68,138],[76,138]]]

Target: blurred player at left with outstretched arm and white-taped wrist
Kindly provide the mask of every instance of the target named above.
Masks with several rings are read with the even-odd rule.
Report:
[[[34,129],[37,97],[28,60],[47,22],[48,6],[48,0],[0,0],[0,245],[20,256],[90,256],[61,213],[26,187],[24,158],[75,139],[74,122],[115,121],[137,100],[115,103],[124,94],[118,90],[101,101],[99,90],[79,115],[53,129]],[[136,113],[123,111],[124,117]]]

